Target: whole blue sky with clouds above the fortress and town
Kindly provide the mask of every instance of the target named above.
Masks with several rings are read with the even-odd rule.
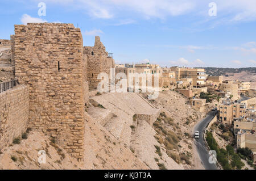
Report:
[[[46,4],[39,16],[38,4]],[[210,16],[209,3],[217,15]],[[0,2],[0,39],[14,24],[61,22],[100,36],[115,62],[240,68],[256,65],[255,0],[16,0]]]

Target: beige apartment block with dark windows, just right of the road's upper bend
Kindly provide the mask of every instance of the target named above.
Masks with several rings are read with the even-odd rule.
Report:
[[[220,121],[229,126],[232,125],[234,119],[246,116],[245,104],[220,104],[218,110],[220,111]]]

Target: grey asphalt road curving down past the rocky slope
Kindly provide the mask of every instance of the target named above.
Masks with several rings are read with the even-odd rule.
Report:
[[[207,125],[210,123],[210,121],[213,119],[214,117],[214,111],[211,111],[208,113],[207,117],[205,117],[203,120],[201,120],[194,128],[194,132],[195,131],[199,131],[199,135],[200,138],[199,139],[195,139],[194,143],[196,145],[196,150],[197,153],[199,154],[199,157],[201,158],[201,163],[203,164],[204,168],[206,170],[218,170],[218,167],[216,166],[216,164],[214,163],[209,163],[209,157],[210,155],[209,150],[207,148],[207,145],[204,141],[203,138],[203,134],[204,134],[204,130],[207,127]],[[217,111],[216,111],[217,113]]]

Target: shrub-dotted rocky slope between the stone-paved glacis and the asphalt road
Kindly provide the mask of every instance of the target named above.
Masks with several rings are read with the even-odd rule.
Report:
[[[162,112],[155,124],[158,141],[171,158],[183,164],[184,169],[194,169],[191,133],[193,125],[203,115],[193,110],[188,98],[176,91],[162,91],[157,99],[150,102]],[[168,141],[171,137],[172,141]]]

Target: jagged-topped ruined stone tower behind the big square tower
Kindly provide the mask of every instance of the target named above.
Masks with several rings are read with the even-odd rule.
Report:
[[[84,61],[86,62],[86,81],[89,90],[97,89],[100,79],[98,74],[107,73],[110,78],[110,69],[115,67],[112,57],[106,52],[106,48],[101,43],[100,37],[95,37],[94,47],[84,47]]]

